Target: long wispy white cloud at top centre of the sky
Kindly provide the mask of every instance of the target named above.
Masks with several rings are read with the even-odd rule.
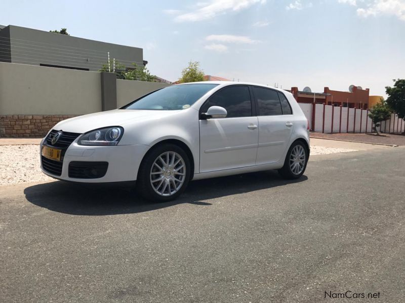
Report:
[[[266,0],[212,0],[210,3],[199,3],[197,8],[188,13],[179,13],[175,21],[201,21],[212,19],[228,11],[240,11],[254,4],[265,4]]]

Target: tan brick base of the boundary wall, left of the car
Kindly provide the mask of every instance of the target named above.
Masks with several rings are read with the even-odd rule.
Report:
[[[3,115],[0,116],[0,137],[44,137],[59,121],[77,115]]]

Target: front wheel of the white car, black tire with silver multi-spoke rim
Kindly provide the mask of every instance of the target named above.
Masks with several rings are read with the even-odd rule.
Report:
[[[190,180],[190,160],[179,146],[164,143],[153,147],[140,165],[137,191],[152,202],[176,199]]]

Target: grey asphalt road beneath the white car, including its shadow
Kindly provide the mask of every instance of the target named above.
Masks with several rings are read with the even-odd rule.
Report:
[[[125,188],[3,186],[0,301],[403,302],[404,168],[405,147],[316,156],[296,182],[201,180],[158,205]]]

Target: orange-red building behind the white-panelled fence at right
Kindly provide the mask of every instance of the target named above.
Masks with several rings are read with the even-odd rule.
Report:
[[[335,105],[357,109],[369,108],[370,89],[362,89],[360,86],[350,85],[349,91],[332,90],[329,87],[323,88],[323,92],[311,92],[306,87],[304,90],[298,90],[298,87],[291,87],[290,92],[299,103],[325,103],[326,105]]]

